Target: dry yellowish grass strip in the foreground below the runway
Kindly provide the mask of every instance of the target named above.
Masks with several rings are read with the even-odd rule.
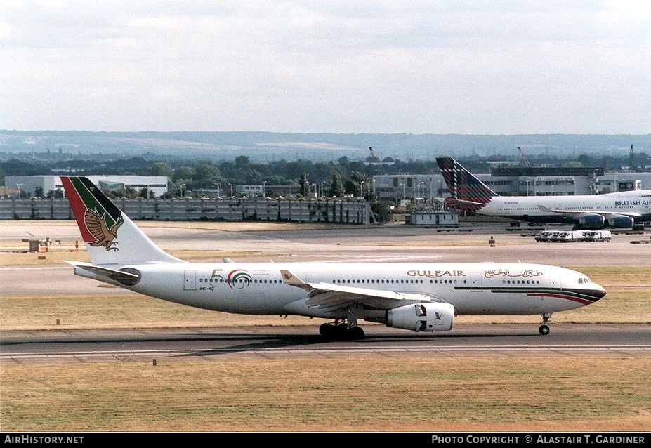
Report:
[[[2,367],[4,431],[648,431],[648,357]]]

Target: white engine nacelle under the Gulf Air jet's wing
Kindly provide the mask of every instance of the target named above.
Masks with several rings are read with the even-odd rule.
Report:
[[[414,303],[386,311],[386,326],[412,331],[449,331],[454,321],[449,303]]]

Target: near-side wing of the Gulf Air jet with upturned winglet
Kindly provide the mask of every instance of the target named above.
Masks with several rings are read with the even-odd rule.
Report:
[[[308,291],[306,304],[328,310],[348,308],[353,303],[361,303],[369,308],[390,309],[409,303],[441,302],[442,298],[428,294],[401,293],[383,289],[358,288],[331,283],[307,283],[296,277],[289,270],[280,270],[286,284]]]

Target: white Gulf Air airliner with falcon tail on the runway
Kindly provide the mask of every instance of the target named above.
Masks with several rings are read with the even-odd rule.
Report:
[[[457,314],[541,315],[606,291],[573,270],[527,263],[188,263],[162,251],[88,178],[62,177],[91,263],[74,273],[147,296],[245,315],[332,319],[324,336],[362,338],[360,320],[448,331]]]

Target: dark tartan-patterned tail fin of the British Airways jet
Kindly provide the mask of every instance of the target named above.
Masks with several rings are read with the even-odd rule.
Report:
[[[487,204],[492,197],[499,196],[452,157],[437,157],[436,162],[445,185],[452,195],[452,198],[448,199],[456,199],[454,202],[446,201],[447,205],[461,210],[476,211]]]

